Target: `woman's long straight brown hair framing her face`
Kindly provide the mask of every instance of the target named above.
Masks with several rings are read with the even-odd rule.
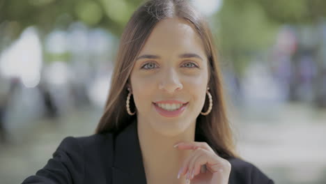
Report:
[[[238,157],[235,153],[231,126],[226,116],[222,76],[219,71],[215,45],[212,41],[212,33],[204,17],[192,7],[188,0],[151,0],[134,12],[121,36],[111,77],[109,96],[95,133],[119,132],[137,117],[127,114],[125,107],[128,93],[126,87],[129,83],[130,73],[135,58],[157,22],[168,17],[183,18],[194,27],[203,40],[209,62],[208,86],[214,101],[210,114],[207,116],[200,114],[196,119],[195,140],[207,142],[222,158]],[[206,98],[203,112],[208,109],[208,104]],[[132,98],[130,99],[130,108],[135,108]]]

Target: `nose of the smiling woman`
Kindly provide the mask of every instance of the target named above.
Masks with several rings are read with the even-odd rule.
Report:
[[[183,89],[183,84],[180,82],[178,73],[173,69],[164,72],[159,84],[159,89],[167,93],[174,93],[177,90]]]

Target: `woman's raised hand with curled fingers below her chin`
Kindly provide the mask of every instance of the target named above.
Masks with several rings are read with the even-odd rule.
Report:
[[[231,172],[228,160],[219,157],[206,142],[180,142],[174,147],[179,150],[194,150],[179,170],[178,178],[186,176],[186,183],[227,184]],[[207,171],[201,172],[201,167]]]

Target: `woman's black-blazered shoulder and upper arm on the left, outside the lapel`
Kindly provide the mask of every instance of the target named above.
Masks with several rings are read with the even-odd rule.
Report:
[[[45,167],[23,183],[94,183],[111,177],[112,135],[65,137]],[[95,182],[101,183],[101,182]]]

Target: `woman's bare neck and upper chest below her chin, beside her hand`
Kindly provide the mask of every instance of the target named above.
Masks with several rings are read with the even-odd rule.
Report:
[[[150,123],[144,121],[138,121],[137,131],[148,183],[152,183],[151,181],[182,183],[180,182],[182,180],[177,178],[178,171],[192,151],[178,150],[173,146],[181,141],[194,141],[195,123],[174,137],[167,137],[156,132],[150,127]]]

